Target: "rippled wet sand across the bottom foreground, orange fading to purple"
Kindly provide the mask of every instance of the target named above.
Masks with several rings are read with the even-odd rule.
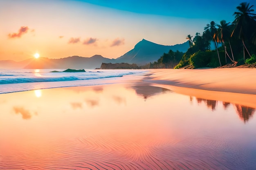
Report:
[[[142,145],[112,138],[81,137],[0,155],[0,170],[250,169],[245,150],[206,138],[168,139]]]

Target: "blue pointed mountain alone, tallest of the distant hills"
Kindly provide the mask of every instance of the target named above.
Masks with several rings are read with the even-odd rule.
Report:
[[[188,49],[188,42],[184,42],[183,44],[176,44],[173,46],[164,46],[143,39],[138,42],[132,50],[125,53],[121,57],[118,57],[115,62],[147,64],[149,62],[157,61],[164,53],[168,53],[170,50],[186,52]]]

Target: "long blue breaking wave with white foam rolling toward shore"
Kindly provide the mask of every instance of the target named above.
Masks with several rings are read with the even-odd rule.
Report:
[[[0,84],[32,83],[32,82],[65,82],[74,80],[102,79],[111,77],[122,77],[123,75],[102,75],[94,77],[64,76],[64,77],[19,77],[0,78]]]

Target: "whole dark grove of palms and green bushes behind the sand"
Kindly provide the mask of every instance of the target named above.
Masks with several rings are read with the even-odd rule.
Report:
[[[234,62],[237,65],[255,63],[255,55],[251,55],[256,53],[256,14],[252,13],[253,7],[242,2],[236,7],[238,11],[234,12],[235,20],[232,23],[222,20],[216,24],[211,21],[204,27],[202,35],[196,33],[193,40],[193,36],[187,35],[190,48],[174,68],[218,67]],[[210,50],[211,42],[215,50]]]

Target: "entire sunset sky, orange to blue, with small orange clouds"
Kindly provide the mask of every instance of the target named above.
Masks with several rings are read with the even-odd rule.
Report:
[[[0,0],[0,60],[22,61],[35,53],[117,58],[143,38],[181,44],[211,21],[233,22],[243,1]]]

